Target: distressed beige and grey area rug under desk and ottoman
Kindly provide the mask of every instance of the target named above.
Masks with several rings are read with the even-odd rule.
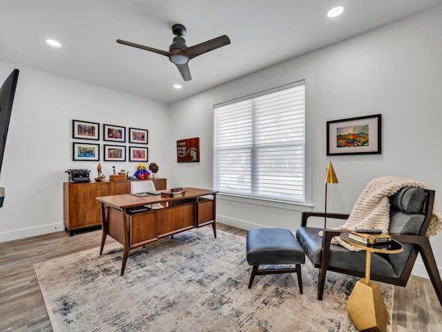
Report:
[[[35,264],[52,329],[59,331],[356,331],[345,302],[357,280],[318,270],[257,276],[247,288],[244,237],[209,227],[131,250],[119,276],[122,246],[111,243]],[[390,320],[393,287],[380,284]],[[389,324],[388,331],[391,331]]]

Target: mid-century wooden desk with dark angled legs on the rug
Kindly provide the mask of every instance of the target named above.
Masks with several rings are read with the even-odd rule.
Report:
[[[216,237],[216,193],[213,190],[183,188],[182,197],[133,196],[131,194],[97,197],[102,210],[102,255],[107,235],[124,247],[122,271],[129,250],[192,228],[212,225]],[[209,196],[209,197],[208,197]],[[165,208],[142,212],[129,212],[136,206],[162,203]]]

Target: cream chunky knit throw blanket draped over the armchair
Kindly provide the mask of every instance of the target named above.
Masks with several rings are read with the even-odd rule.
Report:
[[[378,229],[388,232],[390,226],[390,199],[403,187],[417,187],[429,189],[424,183],[410,180],[409,178],[396,178],[383,176],[375,178],[359,195],[347,221],[337,230],[366,230]],[[433,215],[427,230],[427,237],[432,237],[442,230],[442,214],[434,201]],[[340,237],[334,237],[332,243],[339,243],[348,250],[357,251],[354,246],[345,243]]]

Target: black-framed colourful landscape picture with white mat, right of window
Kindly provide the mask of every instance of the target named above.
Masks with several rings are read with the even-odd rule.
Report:
[[[381,154],[381,114],[327,121],[327,156]]]

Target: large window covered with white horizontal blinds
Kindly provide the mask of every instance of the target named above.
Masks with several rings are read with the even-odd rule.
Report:
[[[213,188],[304,203],[305,82],[213,107]]]

